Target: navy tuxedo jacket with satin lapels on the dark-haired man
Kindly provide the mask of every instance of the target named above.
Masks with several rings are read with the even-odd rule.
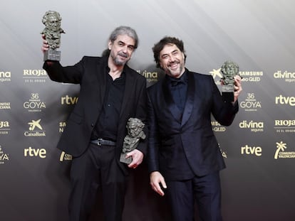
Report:
[[[212,131],[211,114],[219,124],[229,126],[239,107],[237,102],[234,105],[223,102],[211,75],[186,71],[188,85],[183,113],[173,102],[165,77],[148,88],[148,166],[150,172],[160,171],[166,180],[177,180],[185,172],[184,162],[197,176],[224,168]]]

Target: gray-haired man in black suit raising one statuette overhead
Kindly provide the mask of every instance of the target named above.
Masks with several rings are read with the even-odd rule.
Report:
[[[71,221],[88,220],[99,188],[105,220],[122,220],[128,168],[140,165],[147,149],[143,140],[127,154],[133,158],[130,164],[119,161],[128,119],[147,120],[145,77],[127,65],[137,47],[136,32],[120,26],[110,34],[102,57],[84,56],[67,67],[51,60],[43,65],[51,80],[81,85],[78,102],[57,146],[73,156]],[[48,48],[43,36],[41,50],[45,53]]]

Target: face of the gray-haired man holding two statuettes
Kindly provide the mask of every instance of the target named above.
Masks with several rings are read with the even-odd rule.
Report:
[[[130,60],[135,49],[135,41],[127,35],[119,35],[115,41],[109,41],[110,58],[116,66],[123,66]]]

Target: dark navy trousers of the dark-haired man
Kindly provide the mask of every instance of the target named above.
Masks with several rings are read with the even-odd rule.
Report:
[[[174,221],[195,220],[195,203],[201,221],[222,221],[219,172],[166,183]]]

